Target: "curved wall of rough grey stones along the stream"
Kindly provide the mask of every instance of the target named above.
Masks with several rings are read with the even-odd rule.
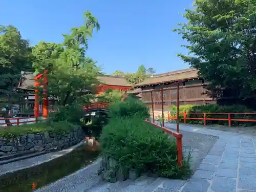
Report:
[[[18,127],[17,127],[18,129]],[[85,134],[82,129],[69,133],[36,133],[7,139],[0,137],[0,157],[24,152],[42,152],[62,150],[83,140]]]

